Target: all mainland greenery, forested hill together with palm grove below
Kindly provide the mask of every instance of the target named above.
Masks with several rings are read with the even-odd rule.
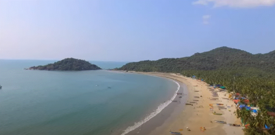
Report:
[[[259,107],[256,116],[246,109],[235,112],[244,124],[249,124],[246,134],[275,134],[275,118],[267,114],[275,112],[275,50],[267,54],[250,54],[219,47],[190,57],[132,62],[118,70],[178,72],[204,79],[210,85],[221,84],[229,92],[241,93],[252,106]],[[266,130],[264,125],[270,129]]]

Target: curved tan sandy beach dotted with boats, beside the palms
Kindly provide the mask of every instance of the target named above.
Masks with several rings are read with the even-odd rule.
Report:
[[[228,98],[229,93],[219,92],[219,89],[209,87],[204,81],[193,78],[187,78],[179,74],[159,73],[159,72],[134,72],[138,74],[147,74],[171,78],[177,81],[181,88],[175,100],[165,107],[159,114],[144,123],[139,128],[127,133],[127,135],[168,135],[169,131],[180,132],[183,135],[243,135],[244,131],[241,127],[229,126],[229,123],[240,124],[241,120],[234,115],[236,106],[232,100]],[[185,88],[184,88],[185,87]],[[213,90],[214,89],[214,90]],[[211,90],[211,91],[210,91]],[[218,97],[212,96],[212,90],[217,92]],[[172,92],[175,92],[172,91]],[[184,95],[187,94],[187,95]],[[182,96],[183,98],[179,98]],[[194,97],[194,96],[198,96]],[[217,100],[211,100],[218,98]],[[198,101],[194,101],[198,100]],[[180,103],[179,103],[180,101]],[[185,105],[185,103],[191,105]],[[219,109],[217,103],[223,104],[226,109]],[[223,115],[214,115],[210,110],[209,104],[213,105],[213,111],[222,113]],[[233,106],[233,107],[231,107]],[[229,109],[231,111],[229,111]],[[226,121],[227,124],[215,123],[214,120]],[[189,130],[187,130],[187,128]],[[201,131],[201,127],[205,130]],[[180,131],[180,129],[183,129]]]

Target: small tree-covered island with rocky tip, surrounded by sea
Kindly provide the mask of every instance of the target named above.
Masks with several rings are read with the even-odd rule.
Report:
[[[100,67],[95,64],[91,64],[88,61],[66,58],[61,61],[57,61],[53,64],[47,64],[44,66],[33,66],[28,68],[30,70],[55,70],[55,71],[81,71],[81,70],[99,70]]]

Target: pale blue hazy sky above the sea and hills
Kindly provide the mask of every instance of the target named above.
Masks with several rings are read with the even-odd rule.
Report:
[[[275,50],[275,0],[0,1],[0,59],[143,61]]]

